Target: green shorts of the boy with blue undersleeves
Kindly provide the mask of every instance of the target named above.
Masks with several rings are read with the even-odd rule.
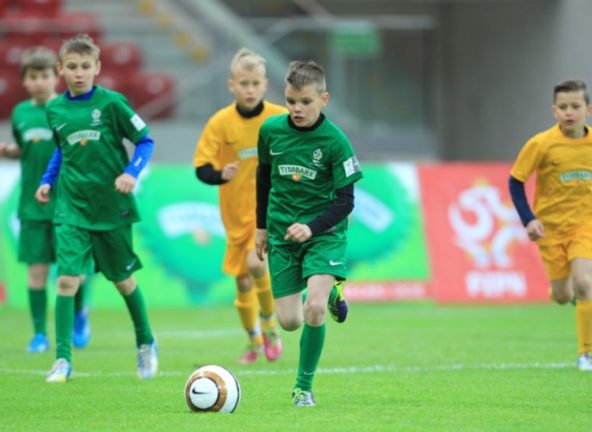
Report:
[[[96,271],[111,282],[121,282],[142,268],[132,248],[130,225],[93,231],[56,225],[58,276],[87,274],[94,259]]]

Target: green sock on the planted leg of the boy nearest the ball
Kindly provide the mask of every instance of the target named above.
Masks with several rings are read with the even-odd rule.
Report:
[[[296,378],[296,387],[301,390],[312,390],[312,380],[325,344],[325,333],[325,323],[319,327],[304,323],[302,336],[300,336],[300,360]]]

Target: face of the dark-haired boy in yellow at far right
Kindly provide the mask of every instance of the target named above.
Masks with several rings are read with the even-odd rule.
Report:
[[[560,92],[555,95],[553,115],[564,134],[581,135],[592,107],[586,103],[584,91]]]

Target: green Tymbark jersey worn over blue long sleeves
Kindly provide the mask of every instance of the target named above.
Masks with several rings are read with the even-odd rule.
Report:
[[[47,119],[62,152],[54,222],[111,230],[140,220],[133,194],[115,190],[129,163],[123,139],[148,133],[126,98],[96,86],[88,100],[65,94],[47,106]]]

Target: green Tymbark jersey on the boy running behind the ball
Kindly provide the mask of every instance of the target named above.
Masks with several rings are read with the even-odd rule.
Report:
[[[267,208],[270,241],[283,241],[293,223],[308,223],[335,199],[335,190],[362,178],[360,165],[345,134],[329,119],[299,130],[288,115],[270,117],[259,129],[259,163],[271,166]],[[347,229],[347,219],[335,227]]]

